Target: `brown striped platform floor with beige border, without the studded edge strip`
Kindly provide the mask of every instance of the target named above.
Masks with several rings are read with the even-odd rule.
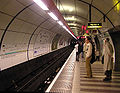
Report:
[[[113,71],[112,81],[103,82],[105,76],[100,61],[92,64],[92,72],[93,78],[85,78],[85,62],[75,62],[72,93],[120,93],[120,72]]]

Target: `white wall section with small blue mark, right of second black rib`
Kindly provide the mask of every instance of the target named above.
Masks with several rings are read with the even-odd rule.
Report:
[[[34,44],[34,56],[42,55],[50,52],[52,33],[45,29],[41,29]]]

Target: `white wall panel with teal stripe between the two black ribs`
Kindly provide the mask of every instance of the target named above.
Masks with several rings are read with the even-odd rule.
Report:
[[[1,69],[27,61],[27,45],[30,34],[7,32],[1,50]]]

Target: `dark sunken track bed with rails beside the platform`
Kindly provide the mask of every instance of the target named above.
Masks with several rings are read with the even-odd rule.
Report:
[[[1,71],[0,91],[22,92],[19,89],[30,82],[30,85],[28,84],[25,89],[29,89],[27,92],[35,91],[40,84],[50,77],[50,74],[54,73],[67,60],[72,50],[73,47],[67,46]],[[49,65],[50,67],[48,67]],[[29,88],[31,85],[32,87]]]

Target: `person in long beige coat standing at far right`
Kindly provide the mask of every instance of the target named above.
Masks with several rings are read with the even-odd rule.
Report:
[[[109,38],[105,39],[104,42],[104,71],[106,77],[103,79],[103,81],[110,81],[112,79],[112,70],[113,70],[113,48],[112,45],[109,42]]]

